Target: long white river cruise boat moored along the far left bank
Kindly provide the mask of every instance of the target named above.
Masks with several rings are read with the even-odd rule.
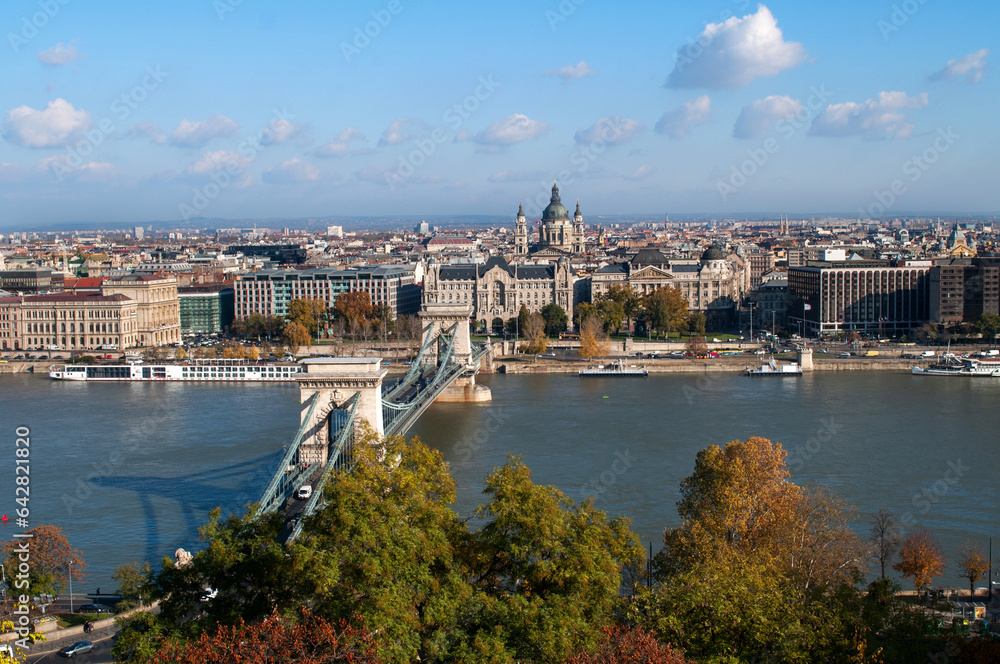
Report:
[[[302,366],[292,362],[248,360],[185,360],[171,364],[65,364],[49,369],[56,380],[93,381],[191,381],[198,383],[236,381],[273,383],[293,381]]]

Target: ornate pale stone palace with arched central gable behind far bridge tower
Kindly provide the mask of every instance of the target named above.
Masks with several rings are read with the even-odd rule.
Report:
[[[511,265],[492,257],[483,265],[431,262],[424,276],[424,302],[471,304],[484,327],[515,318],[524,304],[541,311],[555,303],[573,320],[573,270],[562,259],[547,265]]]

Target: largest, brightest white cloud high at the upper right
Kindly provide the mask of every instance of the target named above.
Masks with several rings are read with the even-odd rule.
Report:
[[[742,88],[805,59],[802,44],[786,42],[771,10],[758,5],[756,14],[709,23],[695,41],[681,46],[666,87]]]

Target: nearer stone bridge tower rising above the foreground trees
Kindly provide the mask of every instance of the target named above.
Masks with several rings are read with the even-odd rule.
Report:
[[[380,436],[385,434],[382,379],[387,372],[382,368],[382,358],[317,357],[302,360],[302,364],[305,371],[296,378],[300,400],[306,403],[313,394],[319,400],[302,440],[303,461],[326,463],[331,442],[330,415],[355,394],[358,395],[355,417],[367,420]],[[308,413],[308,409],[302,411],[303,424]]]

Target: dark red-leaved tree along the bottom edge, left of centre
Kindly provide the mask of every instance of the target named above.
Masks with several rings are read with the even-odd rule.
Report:
[[[170,642],[151,664],[376,664],[372,638],[364,630],[342,622],[333,625],[307,610],[288,618],[277,612],[246,624],[216,625],[197,641]]]

